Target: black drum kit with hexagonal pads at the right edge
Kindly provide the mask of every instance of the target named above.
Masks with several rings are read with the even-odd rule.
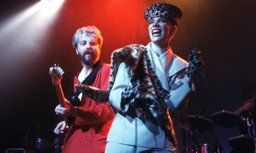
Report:
[[[213,124],[220,127],[230,128],[239,125],[240,123],[245,123],[247,125],[249,134],[243,134],[237,137],[229,138],[229,146],[232,148],[250,146],[253,147],[253,152],[256,153],[256,131],[255,124],[252,119],[240,118],[238,114],[226,110],[218,111],[216,113],[211,114],[211,119],[212,120],[205,118],[203,116],[188,115],[187,120],[189,122],[190,127],[186,125],[179,125],[186,131],[186,153],[224,153],[223,147],[219,144],[219,142],[217,142],[217,144],[199,143],[196,139],[194,139],[193,134],[202,130],[212,131]],[[214,132],[212,133],[214,135],[213,137],[216,138]],[[216,141],[218,141],[217,138]],[[241,149],[239,152],[241,152]],[[242,150],[242,152],[244,152],[244,150]]]

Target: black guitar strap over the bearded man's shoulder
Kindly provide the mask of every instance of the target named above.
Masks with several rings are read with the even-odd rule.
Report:
[[[100,68],[103,66],[103,63],[101,62],[101,60],[98,60],[97,63],[95,63],[95,65],[93,65],[92,67],[92,73],[90,73],[83,81],[81,84],[83,85],[90,85],[94,80],[95,80],[95,76],[98,73],[98,71],[100,70]],[[76,92],[73,94],[73,96],[71,97],[71,100],[73,101],[73,105],[74,106],[79,106],[80,101],[76,102],[78,100],[78,96],[80,95],[80,91],[76,90]]]

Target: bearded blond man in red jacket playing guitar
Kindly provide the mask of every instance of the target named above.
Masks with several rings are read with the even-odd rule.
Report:
[[[74,84],[83,82],[101,90],[107,89],[110,65],[99,60],[102,41],[100,30],[95,26],[83,27],[76,31],[73,47],[81,60],[83,70],[75,76]],[[76,91],[76,88],[74,90]],[[64,141],[63,153],[103,153],[114,117],[109,104],[99,103],[79,92],[76,92],[72,99],[76,97],[81,100],[77,107],[66,100],[70,109],[60,105],[55,108],[56,114],[60,116],[75,116]],[[59,134],[64,124],[64,121],[59,123],[54,132]]]

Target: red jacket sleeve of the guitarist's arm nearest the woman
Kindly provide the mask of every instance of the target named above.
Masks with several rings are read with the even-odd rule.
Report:
[[[102,67],[102,70],[98,72],[100,73],[99,78],[96,78],[95,80],[98,81],[95,87],[100,88],[100,90],[107,90],[109,70],[110,66]],[[89,106],[84,105],[77,107],[76,109],[76,125],[104,123],[110,121],[112,118],[114,118],[114,114],[109,107],[109,102],[100,103],[91,100]]]

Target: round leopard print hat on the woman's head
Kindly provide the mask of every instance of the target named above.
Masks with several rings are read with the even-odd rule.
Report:
[[[155,17],[164,17],[174,21],[177,26],[178,26],[178,19],[180,19],[181,16],[182,16],[181,10],[178,7],[168,3],[156,3],[153,5],[150,5],[144,12],[144,18],[147,21],[150,21]]]

